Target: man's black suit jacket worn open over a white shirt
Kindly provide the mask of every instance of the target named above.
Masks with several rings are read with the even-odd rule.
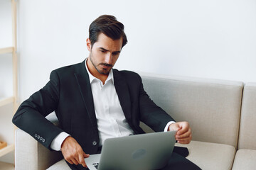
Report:
[[[151,101],[143,89],[139,74],[113,69],[114,87],[117,91],[125,118],[135,134],[144,133],[139,127],[142,121],[156,132],[163,131],[170,115]],[[85,61],[68,67],[55,69],[50,81],[21,103],[14,115],[13,123],[28,132],[48,149],[60,132],[67,132],[87,154],[95,154],[99,135],[92,98],[92,91]],[[55,111],[60,128],[46,120],[46,115]],[[75,166],[70,166],[75,169]],[[82,169],[82,166],[77,166]]]

